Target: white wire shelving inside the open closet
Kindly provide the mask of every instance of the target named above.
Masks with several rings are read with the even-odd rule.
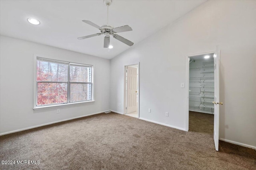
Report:
[[[190,71],[200,71],[201,76],[190,77],[189,100],[194,103],[190,110],[214,114],[214,64],[203,62],[199,67],[190,67]]]

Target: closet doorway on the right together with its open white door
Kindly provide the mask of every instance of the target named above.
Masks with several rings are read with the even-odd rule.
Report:
[[[213,134],[219,143],[220,51],[186,57],[186,131]]]

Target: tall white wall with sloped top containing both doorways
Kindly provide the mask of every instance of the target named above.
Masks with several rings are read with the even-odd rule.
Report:
[[[207,1],[112,59],[111,110],[124,110],[124,65],[140,62],[140,117],[185,129],[185,56],[216,45],[220,138],[256,146],[256,1]]]

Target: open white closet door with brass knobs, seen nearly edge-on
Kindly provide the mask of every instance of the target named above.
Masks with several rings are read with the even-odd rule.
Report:
[[[219,114],[220,114],[220,51],[214,54],[214,143],[215,149],[219,150]],[[221,103],[222,104],[222,103]]]

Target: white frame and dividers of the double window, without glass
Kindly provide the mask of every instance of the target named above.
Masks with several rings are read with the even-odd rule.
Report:
[[[68,65],[68,81],[64,82],[67,83],[67,102],[65,103],[57,103],[57,104],[46,104],[46,105],[40,105],[37,106],[37,85],[38,85],[38,81],[37,81],[37,59],[44,59],[47,61],[53,61],[56,63],[66,63]],[[70,82],[70,65],[77,65],[77,66],[89,66],[92,68],[92,76],[91,76],[91,82]],[[47,108],[53,108],[53,107],[60,107],[60,106],[70,106],[70,105],[74,105],[74,104],[84,104],[84,103],[90,103],[90,102],[95,102],[94,101],[94,67],[93,65],[90,64],[83,64],[83,63],[74,63],[74,62],[69,62],[69,61],[62,61],[60,59],[50,59],[50,58],[46,58],[46,57],[42,57],[40,55],[34,55],[34,110],[40,110],[40,109],[47,109]],[[60,82],[62,83],[62,82]],[[91,84],[91,100],[87,100],[87,101],[70,101],[70,84],[71,83],[82,83],[82,84]]]

